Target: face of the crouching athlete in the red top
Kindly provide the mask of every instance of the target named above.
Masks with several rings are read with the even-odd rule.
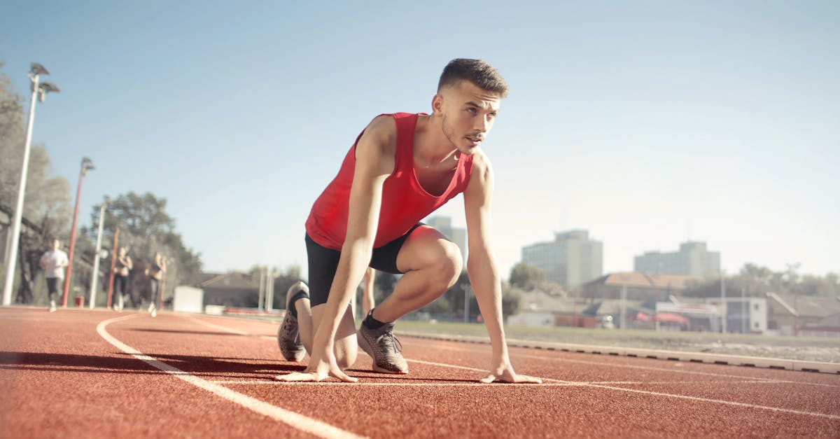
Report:
[[[433,99],[433,108],[443,116],[444,135],[463,154],[473,154],[490,133],[501,96],[472,82],[445,87]]]

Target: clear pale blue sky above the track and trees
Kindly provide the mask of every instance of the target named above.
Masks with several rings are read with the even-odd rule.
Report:
[[[570,229],[606,272],[689,239],[727,272],[840,272],[840,2],[216,3],[3,7],[3,71],[28,95],[38,61],[62,90],[34,143],[71,196],[81,157],[97,166],[83,224],[151,192],[207,270],[305,268],[304,220],[355,136],[430,111],[470,57],[511,88],[483,146],[504,278]],[[462,204],[439,212],[464,226]]]

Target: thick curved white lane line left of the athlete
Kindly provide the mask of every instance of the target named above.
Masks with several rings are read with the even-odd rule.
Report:
[[[320,420],[315,420],[307,416],[297,414],[293,411],[281,409],[276,405],[270,405],[265,401],[261,401],[260,399],[255,399],[244,394],[239,394],[238,392],[234,392],[233,390],[223,387],[217,383],[212,383],[202,378],[198,378],[190,373],[186,373],[179,368],[174,368],[169,364],[166,364],[165,362],[160,362],[153,357],[149,357],[143,352],[139,352],[138,350],[134,349],[134,347],[126,345],[122,341],[117,340],[116,338],[111,336],[111,334],[109,334],[108,331],[105,329],[109,324],[115,321],[126,320],[135,316],[136,315],[126,315],[123,317],[116,317],[113,319],[104,320],[100,322],[99,325],[97,325],[97,333],[99,333],[99,336],[102,336],[102,338],[105,339],[105,341],[108,341],[108,343],[111,343],[120,351],[123,351],[131,355],[132,357],[137,358],[140,361],[146,362],[154,368],[158,368],[163,372],[169,373],[177,378],[181,378],[187,383],[191,383],[192,385],[200,389],[205,389],[208,392],[216,394],[224,399],[228,399],[231,402],[242,405],[248,410],[253,410],[257,413],[260,413],[260,415],[265,415],[270,417],[271,419],[279,420],[284,424],[297,428],[298,430],[306,431],[307,433],[318,437],[363,437],[356,436],[353,433],[349,431],[344,431],[338,427],[330,426],[329,424],[324,423]]]

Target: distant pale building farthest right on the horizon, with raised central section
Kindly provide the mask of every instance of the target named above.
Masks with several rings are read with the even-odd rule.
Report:
[[[705,242],[687,241],[680,244],[680,251],[646,251],[634,258],[633,267],[637,272],[706,276],[721,271],[721,253],[708,251]]]

